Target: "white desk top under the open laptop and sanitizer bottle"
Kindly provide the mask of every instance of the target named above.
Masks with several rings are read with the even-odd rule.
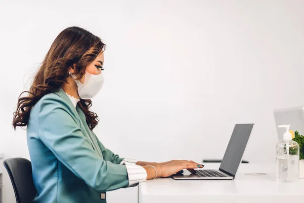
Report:
[[[218,167],[218,163],[205,164],[206,169]],[[149,180],[139,184],[139,203],[304,202],[304,179],[297,183],[277,183],[275,170],[275,164],[241,163],[235,180]]]

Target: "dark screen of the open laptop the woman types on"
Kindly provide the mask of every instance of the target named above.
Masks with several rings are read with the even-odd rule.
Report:
[[[236,124],[219,166],[220,171],[235,176],[254,124]]]

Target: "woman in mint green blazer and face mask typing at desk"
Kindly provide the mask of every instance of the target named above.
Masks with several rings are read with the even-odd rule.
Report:
[[[203,167],[187,160],[124,159],[102,145],[92,131],[97,114],[89,108],[103,84],[104,49],[105,44],[91,32],[64,29],[28,95],[19,97],[13,126],[27,126],[37,190],[34,202],[106,202],[106,191],[168,177],[183,168]]]

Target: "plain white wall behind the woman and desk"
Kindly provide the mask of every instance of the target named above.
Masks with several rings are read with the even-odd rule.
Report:
[[[273,109],[304,104],[303,10],[301,0],[2,1],[0,149],[29,158],[25,131],[11,126],[18,95],[58,33],[77,25],[107,44],[93,100],[106,147],[146,161],[221,158],[234,124],[254,122],[244,158],[274,161]],[[137,188],[108,193],[121,198],[136,202]]]

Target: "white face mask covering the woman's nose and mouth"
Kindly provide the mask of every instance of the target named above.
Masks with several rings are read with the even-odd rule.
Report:
[[[81,83],[79,80],[76,80],[75,75],[71,74],[71,76],[73,79],[75,79],[75,82],[78,86],[78,94],[80,98],[83,99],[93,98],[100,91],[104,81],[102,74],[93,75],[86,72],[86,74],[84,75],[84,83]]]

